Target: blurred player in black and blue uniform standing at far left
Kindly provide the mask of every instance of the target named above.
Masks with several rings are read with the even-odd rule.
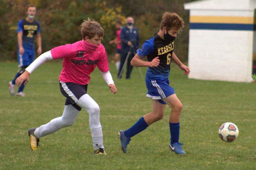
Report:
[[[18,22],[17,34],[18,34],[18,63],[19,70],[16,73],[14,79],[8,83],[9,92],[11,95],[15,94],[15,80],[19,77],[33,61],[35,56],[34,37],[36,36],[36,42],[38,45],[37,54],[42,53],[41,47],[41,35],[40,35],[40,23],[34,20],[36,15],[36,6],[28,5],[26,8],[27,17]],[[25,96],[23,93],[24,83],[18,88],[17,96]]]

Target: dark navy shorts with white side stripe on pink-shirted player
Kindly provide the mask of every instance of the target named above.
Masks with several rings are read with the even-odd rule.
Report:
[[[65,105],[71,104],[80,111],[82,108],[78,106],[76,102],[81,96],[87,94],[87,84],[80,85],[77,83],[65,83],[60,81],[59,88],[63,96],[66,97]]]

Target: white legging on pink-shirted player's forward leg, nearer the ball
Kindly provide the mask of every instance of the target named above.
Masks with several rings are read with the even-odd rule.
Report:
[[[94,149],[104,148],[99,105],[88,94],[80,97],[76,104],[84,108],[89,114],[89,127],[92,133]]]

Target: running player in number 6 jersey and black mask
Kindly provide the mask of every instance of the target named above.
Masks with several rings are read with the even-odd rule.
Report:
[[[173,87],[169,86],[170,63],[174,61],[184,74],[189,74],[189,67],[185,66],[175,55],[174,40],[177,33],[184,27],[183,19],[174,12],[165,12],[162,16],[160,30],[152,38],[144,42],[137,50],[137,54],[131,60],[131,65],[136,67],[148,67],[146,73],[147,97],[152,99],[152,112],[141,117],[132,127],[125,131],[119,131],[121,149],[127,152],[127,145],[131,137],[145,130],[152,123],[164,117],[164,109],[168,104],[172,111],[169,118],[170,150],[179,155],[186,155],[179,142],[179,120],[182,104],[176,96]],[[148,61],[142,58],[147,56]]]

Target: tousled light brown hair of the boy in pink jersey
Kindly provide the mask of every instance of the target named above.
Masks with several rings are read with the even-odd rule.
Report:
[[[88,20],[84,20],[81,24],[81,33],[83,39],[88,36],[89,39],[98,35],[100,39],[103,39],[104,30],[100,27],[100,24],[88,17]]]

